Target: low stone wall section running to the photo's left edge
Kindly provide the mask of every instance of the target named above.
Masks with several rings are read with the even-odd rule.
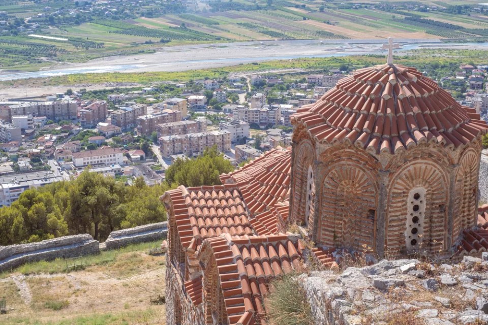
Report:
[[[28,262],[99,252],[99,242],[88,234],[59,237],[31,244],[0,246],[0,271],[10,270]]]

